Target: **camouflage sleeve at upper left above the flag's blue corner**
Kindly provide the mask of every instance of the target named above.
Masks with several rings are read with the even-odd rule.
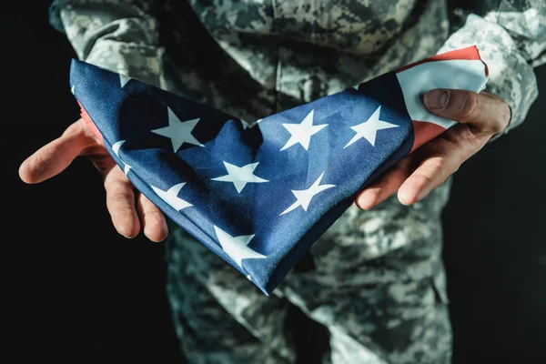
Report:
[[[90,64],[163,87],[154,0],[55,0],[51,25]]]

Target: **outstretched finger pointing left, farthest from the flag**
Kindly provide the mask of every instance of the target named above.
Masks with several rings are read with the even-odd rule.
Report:
[[[95,141],[86,134],[83,120],[68,126],[62,136],[38,149],[19,167],[26,183],[39,183],[64,171],[86,147]]]

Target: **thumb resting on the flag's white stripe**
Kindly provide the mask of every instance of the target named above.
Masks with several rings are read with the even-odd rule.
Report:
[[[508,104],[487,92],[436,88],[425,94],[423,102],[433,114],[470,123],[491,135],[500,133],[510,120]]]

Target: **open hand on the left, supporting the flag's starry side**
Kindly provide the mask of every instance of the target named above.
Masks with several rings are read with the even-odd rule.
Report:
[[[102,174],[106,207],[119,234],[134,238],[144,227],[144,234],[152,241],[167,238],[163,213],[136,191],[84,119],[68,126],[62,136],[26,158],[19,167],[19,176],[26,183],[42,182],[61,173],[78,156],[89,157]]]

